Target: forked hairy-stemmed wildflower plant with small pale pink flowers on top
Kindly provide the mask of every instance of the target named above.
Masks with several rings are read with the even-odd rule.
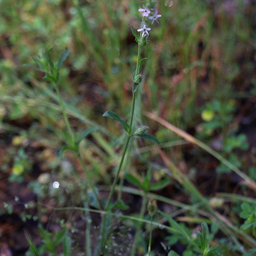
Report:
[[[97,246],[95,255],[99,255],[100,253],[103,253],[103,255],[107,254],[106,251],[106,241],[107,241],[107,235],[108,235],[108,223],[109,223],[109,216],[110,216],[110,211],[114,208],[116,208],[116,206],[118,205],[119,209],[123,209],[126,208],[127,205],[124,204],[124,202],[122,202],[121,199],[118,199],[116,203],[112,204],[112,199],[113,199],[113,194],[116,188],[116,184],[118,181],[118,178],[120,177],[120,172],[122,169],[122,165],[125,159],[125,155],[129,146],[129,142],[131,140],[132,137],[141,137],[143,139],[149,140],[153,143],[159,144],[159,141],[151,134],[147,133],[148,127],[147,126],[140,126],[137,128],[134,128],[133,125],[133,119],[134,119],[134,109],[135,109],[135,99],[136,99],[136,91],[139,87],[139,85],[143,82],[144,80],[144,75],[141,73],[141,68],[142,65],[144,63],[144,61],[147,58],[142,58],[140,57],[141,55],[141,47],[144,47],[148,44],[149,40],[149,31],[151,31],[151,28],[148,26],[147,22],[152,20],[152,23],[154,23],[154,21],[157,21],[157,19],[159,17],[161,17],[160,14],[157,14],[157,10],[156,10],[156,0],[147,0],[147,1],[142,1],[140,8],[138,9],[139,12],[142,12],[142,19],[141,19],[141,23],[140,23],[140,27],[137,28],[137,30],[132,26],[132,34],[135,37],[135,41],[138,43],[138,55],[137,55],[137,65],[136,65],[136,69],[132,75],[132,79],[133,79],[133,84],[132,84],[132,106],[131,106],[131,116],[130,116],[130,121],[129,124],[122,119],[121,117],[119,117],[116,113],[112,112],[112,111],[106,111],[103,116],[107,116],[110,117],[112,119],[115,119],[116,121],[118,121],[124,131],[126,132],[126,142],[124,144],[124,150],[121,156],[121,160],[120,163],[118,165],[117,168],[117,172],[114,178],[114,181],[112,183],[112,187],[110,189],[110,193],[108,196],[108,199],[106,201],[105,204],[102,204],[97,190],[94,186],[94,184],[92,183],[92,179],[91,179],[91,175],[90,173],[87,171],[86,166],[80,156],[80,152],[79,152],[79,143],[81,142],[81,140],[83,140],[88,134],[90,134],[91,132],[94,132],[96,129],[94,127],[92,128],[88,128],[86,129],[84,132],[82,132],[81,134],[77,134],[73,131],[73,129],[71,128],[71,125],[69,123],[68,120],[68,116],[66,113],[66,109],[65,109],[65,105],[64,102],[61,98],[60,95],[60,89],[59,89],[59,70],[63,64],[63,62],[66,60],[66,58],[68,57],[69,54],[69,50],[66,49],[66,51],[64,51],[62,53],[62,55],[60,56],[60,59],[57,63],[53,63],[51,58],[50,58],[50,51],[52,48],[50,48],[47,52],[42,53],[38,58],[34,58],[35,64],[36,66],[32,66],[32,65],[28,65],[25,64],[25,66],[33,68],[35,70],[41,71],[45,74],[45,76],[43,77],[43,79],[45,81],[51,82],[54,85],[54,89],[57,93],[58,96],[58,101],[62,110],[62,114],[65,120],[65,124],[66,124],[66,129],[67,131],[62,131],[64,138],[67,142],[67,144],[65,146],[63,146],[62,148],[60,148],[59,150],[59,157],[62,157],[62,153],[64,150],[72,150],[74,153],[76,153],[76,156],[84,170],[84,173],[86,175],[86,179],[87,179],[87,184],[88,187],[90,187],[92,189],[93,192],[93,196],[97,202],[97,206],[96,208],[100,209],[103,212],[103,217],[102,217],[102,221],[101,221],[101,229],[100,229],[100,236],[99,236],[99,244]],[[157,21],[158,23],[158,21]],[[140,32],[139,35],[137,34],[137,32]],[[122,189],[120,190],[122,192]],[[89,200],[89,196],[87,195],[87,198]],[[119,196],[118,198],[121,198],[121,196]],[[145,197],[146,198],[146,197]],[[152,201],[152,200],[151,200]],[[145,201],[146,202],[146,201]],[[89,207],[90,202],[87,202],[86,206]],[[152,207],[150,207],[151,209]],[[151,211],[151,210],[150,210]],[[144,212],[141,211],[141,213],[144,214]],[[87,212],[88,215],[88,212]],[[89,216],[89,215],[88,215]],[[89,225],[88,225],[89,227]],[[88,246],[90,247],[90,241],[88,241]],[[134,247],[135,248],[135,247]],[[88,255],[90,255],[91,252],[88,251]]]

